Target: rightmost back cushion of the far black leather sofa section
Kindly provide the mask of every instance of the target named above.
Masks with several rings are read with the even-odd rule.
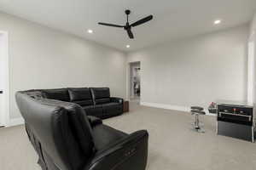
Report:
[[[105,104],[110,102],[109,88],[90,88],[92,98],[96,105]]]

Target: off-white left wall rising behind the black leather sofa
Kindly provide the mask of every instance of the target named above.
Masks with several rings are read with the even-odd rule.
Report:
[[[9,32],[11,119],[20,117],[18,90],[107,86],[125,97],[122,52],[2,13],[0,31]]]

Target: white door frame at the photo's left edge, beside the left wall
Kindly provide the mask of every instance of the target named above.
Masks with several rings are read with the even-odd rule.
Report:
[[[0,115],[1,126],[9,126],[9,34],[8,31],[0,31],[0,36],[3,38],[3,46],[0,46],[3,50],[3,114]]]

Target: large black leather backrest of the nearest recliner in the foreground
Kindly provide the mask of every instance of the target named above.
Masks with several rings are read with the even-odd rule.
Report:
[[[76,104],[36,96],[18,92],[16,101],[32,135],[32,144],[39,148],[38,155],[45,156],[44,163],[50,164],[47,167],[80,169],[94,152],[90,123],[83,109]]]

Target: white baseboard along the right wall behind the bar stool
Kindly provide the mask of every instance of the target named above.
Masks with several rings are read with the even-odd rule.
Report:
[[[190,112],[190,107],[187,107],[187,106],[166,105],[166,104],[149,103],[149,102],[141,102],[140,104],[148,107],[155,107],[155,108],[172,110],[172,111]],[[209,111],[207,111],[206,109],[205,111],[207,113],[207,116],[216,116],[216,114],[209,113]]]

